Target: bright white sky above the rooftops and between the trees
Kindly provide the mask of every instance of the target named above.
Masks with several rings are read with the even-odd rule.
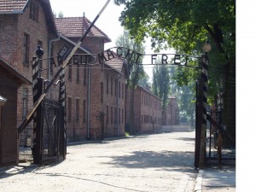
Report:
[[[64,17],[81,17],[85,13],[85,17],[92,21],[96,18],[104,4],[107,3],[107,0],[50,0],[50,3],[56,15],[62,12]],[[105,44],[105,49],[115,47],[116,39],[124,32],[124,28],[119,22],[120,13],[124,8],[123,5],[115,5],[113,0],[111,0],[102,15],[96,20],[95,25],[112,40],[111,43]],[[153,51],[150,48],[150,41],[147,40],[147,42],[145,44],[145,52],[151,54]],[[161,51],[161,53],[166,53],[166,51]],[[143,63],[150,63],[150,57],[146,57]],[[152,81],[152,66],[144,66],[144,69],[148,73],[150,81]]]

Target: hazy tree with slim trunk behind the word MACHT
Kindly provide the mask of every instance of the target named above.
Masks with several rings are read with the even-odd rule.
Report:
[[[144,53],[144,47],[143,44],[138,44],[134,40],[130,38],[129,32],[124,32],[123,35],[119,36],[119,38],[116,40],[115,43],[117,46],[125,47],[125,51],[128,49],[132,49],[137,51],[138,53]],[[123,52],[124,55],[127,54],[127,52]],[[133,60],[135,61],[135,60]],[[132,62],[132,60],[127,61],[128,62],[128,71],[129,71],[129,78],[127,80],[128,89],[131,90],[131,102],[130,102],[130,115],[129,119],[125,119],[129,121],[129,128],[127,131],[129,131],[131,134],[136,133],[136,129],[134,126],[134,94],[135,89],[137,87],[137,84],[139,82],[139,79],[143,79],[145,77],[145,72],[143,69],[143,65],[137,65]],[[142,63],[141,61],[138,61],[138,63]],[[125,105],[126,105],[127,97],[125,96]],[[127,108],[125,107],[125,110]]]

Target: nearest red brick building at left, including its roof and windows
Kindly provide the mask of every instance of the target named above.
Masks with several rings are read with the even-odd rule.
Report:
[[[0,2],[0,58],[32,81],[32,56],[38,44],[48,56],[49,41],[56,29],[49,0]],[[47,66],[47,60],[42,65]],[[43,74],[43,75],[47,75]],[[32,109],[32,85],[21,84],[17,102],[17,126]],[[20,134],[21,145],[32,137],[32,124]]]

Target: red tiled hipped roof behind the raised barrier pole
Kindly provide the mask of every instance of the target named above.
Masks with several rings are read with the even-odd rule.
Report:
[[[91,22],[85,16],[83,17],[63,17],[55,18],[57,31],[67,38],[80,38],[84,31],[90,26]],[[92,26],[88,34],[89,37],[100,37],[105,39],[105,43],[111,42],[102,30],[97,26]]]

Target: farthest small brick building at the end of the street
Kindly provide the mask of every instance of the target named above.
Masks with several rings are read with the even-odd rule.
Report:
[[[174,96],[170,96],[170,101],[163,113],[163,125],[179,125],[179,108]]]

